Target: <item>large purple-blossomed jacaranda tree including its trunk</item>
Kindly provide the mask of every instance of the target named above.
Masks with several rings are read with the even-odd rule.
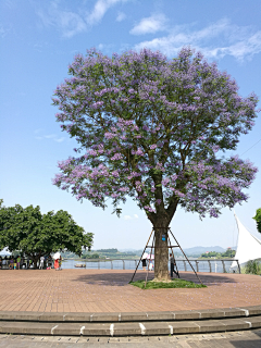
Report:
[[[105,208],[132,197],[156,232],[157,279],[167,275],[167,227],[178,206],[217,217],[247,200],[257,169],[238,157],[238,138],[253,126],[257,97],[243,98],[234,79],[184,48],[76,55],[71,78],[53,98],[57,120],[78,142],[53,181],[78,200]]]

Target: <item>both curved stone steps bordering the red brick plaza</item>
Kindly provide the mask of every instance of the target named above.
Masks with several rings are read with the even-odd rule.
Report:
[[[149,313],[0,312],[0,333],[57,336],[152,336],[261,327],[261,306]]]

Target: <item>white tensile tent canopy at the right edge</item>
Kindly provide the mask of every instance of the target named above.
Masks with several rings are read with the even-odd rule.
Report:
[[[247,228],[238,220],[235,212],[234,215],[238,228],[235,260],[238,260],[238,263],[241,264],[250,260],[261,259],[261,240],[247,231]],[[237,262],[233,261],[231,268],[233,269],[235,266],[237,266]]]

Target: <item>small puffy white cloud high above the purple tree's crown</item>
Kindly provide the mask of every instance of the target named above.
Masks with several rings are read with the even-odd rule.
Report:
[[[163,14],[154,14],[150,17],[142,18],[137,25],[135,25],[129,34],[142,35],[153,34],[165,29],[166,17]]]

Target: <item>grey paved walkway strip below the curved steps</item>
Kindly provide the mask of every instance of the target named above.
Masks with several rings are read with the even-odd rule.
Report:
[[[0,335],[0,348],[260,348],[261,330],[154,337],[52,337]]]

